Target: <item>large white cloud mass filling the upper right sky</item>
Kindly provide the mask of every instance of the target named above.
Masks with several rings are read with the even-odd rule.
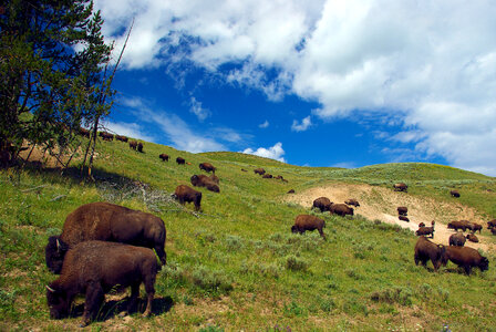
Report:
[[[102,9],[104,33],[121,44],[123,25],[136,17],[126,68],[190,61],[217,71],[239,64],[220,76],[271,101],[287,94],[316,101],[320,107],[313,115],[323,120],[364,111],[394,114],[404,120],[399,129],[410,133],[397,142],[415,142],[418,152],[496,175],[487,153],[496,143],[489,128],[496,123],[492,1],[116,3],[96,0],[95,8]],[[468,151],[461,153],[458,142]]]

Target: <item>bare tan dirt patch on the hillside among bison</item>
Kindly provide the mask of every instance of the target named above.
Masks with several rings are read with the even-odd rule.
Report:
[[[370,220],[381,220],[388,224],[395,224],[413,231],[418,229],[418,224],[424,222],[431,226],[435,220],[434,241],[448,245],[448,239],[454,230],[447,229],[447,222],[452,220],[469,220],[483,225],[485,235],[477,234],[478,243],[466,241],[465,246],[483,249],[485,251],[496,251],[496,246],[487,239],[488,231],[485,228],[486,221],[471,207],[458,203],[440,203],[427,197],[415,197],[405,193],[393,191],[392,189],[374,187],[370,185],[332,184],[324,187],[310,188],[294,195],[285,197],[286,201],[299,204],[310,208],[318,197],[328,197],[333,203],[344,203],[349,198],[355,198],[360,207],[355,208],[355,215],[361,215]],[[409,208],[410,222],[397,219],[396,207],[406,206]]]

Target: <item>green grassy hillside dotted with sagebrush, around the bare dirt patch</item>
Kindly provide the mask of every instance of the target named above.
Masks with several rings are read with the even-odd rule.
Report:
[[[170,162],[162,162],[161,153]],[[177,165],[182,156],[190,165]],[[199,174],[198,164],[217,167],[220,194],[203,191],[203,211],[182,207],[169,194]],[[78,166],[75,164],[75,166]],[[262,179],[264,167],[288,183]],[[241,172],[241,168],[248,172]],[[298,167],[236,153],[189,154],[145,143],[144,153],[121,142],[99,145],[95,183],[76,169],[27,168],[0,173],[0,330],[66,330],[74,317],[50,320],[44,284],[55,279],[44,264],[44,246],[61,232],[65,216],[82,204],[108,200],[159,216],[167,228],[168,264],[157,277],[154,315],[118,318],[124,294],[110,294],[90,329],[128,330],[490,330],[496,273],[464,276],[450,263],[438,273],[416,267],[416,238],[399,227],[360,217],[326,219],[327,240],[292,235],[290,226],[308,208],[282,203],[291,188],[332,181],[391,187],[410,185],[407,195],[459,201],[496,217],[496,179],[430,164],[390,164],[358,169]],[[447,191],[446,191],[447,190]],[[485,230],[487,234],[487,230]],[[428,264],[430,266],[430,264]],[[432,266],[430,266],[432,267]],[[142,288],[143,294],[143,288]],[[463,308],[463,310],[461,309]]]

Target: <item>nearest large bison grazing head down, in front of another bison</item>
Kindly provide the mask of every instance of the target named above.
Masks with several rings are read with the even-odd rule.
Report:
[[[86,326],[102,308],[105,293],[117,284],[120,288],[131,287],[127,307],[131,312],[142,282],[147,294],[143,315],[147,317],[152,313],[157,266],[155,253],[148,248],[105,241],[78,243],[68,251],[59,279],[46,286],[50,317],[68,317],[75,295],[85,294],[81,326]]]

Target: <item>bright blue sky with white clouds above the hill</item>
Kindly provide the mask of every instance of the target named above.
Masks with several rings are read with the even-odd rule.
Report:
[[[105,125],[292,165],[425,162],[496,176],[492,0],[95,0]]]

